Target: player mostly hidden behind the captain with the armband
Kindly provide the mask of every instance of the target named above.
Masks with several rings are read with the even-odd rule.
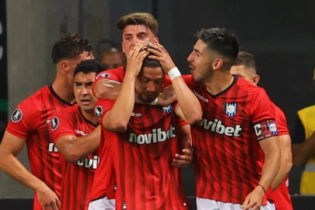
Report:
[[[254,85],[257,85],[260,79],[259,75],[257,75],[254,56],[247,52],[238,53],[236,63],[231,68],[231,74],[243,77]],[[280,140],[281,165],[276,178],[271,184],[272,189],[269,188],[266,195],[267,199],[274,201],[277,210],[293,210],[288,189],[288,173],[292,167],[291,138],[283,111],[275,104],[272,103],[272,105],[276,111],[276,123]]]

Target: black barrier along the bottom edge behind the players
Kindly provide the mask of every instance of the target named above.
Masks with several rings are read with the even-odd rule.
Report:
[[[196,210],[196,197],[188,196],[192,209]],[[315,196],[291,196],[294,210],[314,210]],[[32,198],[0,198],[0,210],[32,210]]]

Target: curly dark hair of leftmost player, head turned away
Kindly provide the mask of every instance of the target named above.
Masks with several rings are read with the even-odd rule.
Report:
[[[67,34],[61,35],[59,41],[54,44],[51,55],[56,64],[62,59],[72,59],[84,52],[92,54],[92,45],[89,41],[78,34]]]

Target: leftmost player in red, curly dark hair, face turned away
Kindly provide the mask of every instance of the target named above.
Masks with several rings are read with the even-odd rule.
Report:
[[[61,36],[52,59],[57,75],[52,85],[23,100],[11,115],[0,145],[0,168],[35,191],[34,210],[60,206],[61,165],[58,150],[49,136],[54,110],[72,106],[73,71],[82,60],[92,59],[92,46],[77,34]],[[31,173],[16,156],[26,144]]]

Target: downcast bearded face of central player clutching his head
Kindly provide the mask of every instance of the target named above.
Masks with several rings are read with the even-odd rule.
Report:
[[[157,98],[164,83],[165,73],[162,68],[143,67],[135,81],[138,98],[150,103]]]

